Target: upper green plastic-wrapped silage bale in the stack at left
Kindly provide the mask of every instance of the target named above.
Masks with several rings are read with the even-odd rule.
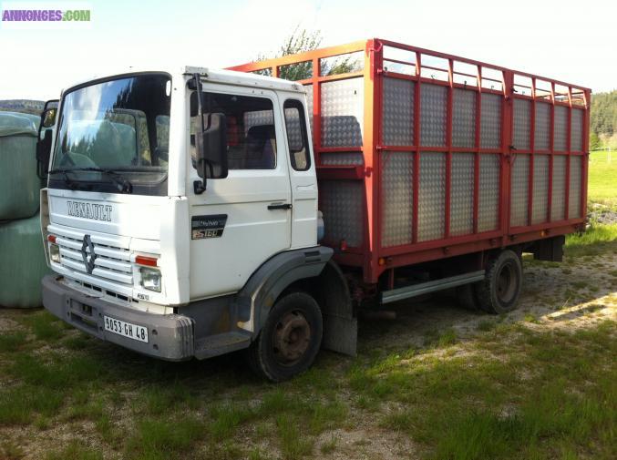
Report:
[[[38,210],[38,120],[35,115],[0,112],[0,221],[29,218]]]

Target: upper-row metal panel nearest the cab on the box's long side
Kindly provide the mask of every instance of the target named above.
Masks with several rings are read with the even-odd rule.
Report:
[[[386,146],[414,143],[414,88],[416,83],[384,78],[382,137]]]

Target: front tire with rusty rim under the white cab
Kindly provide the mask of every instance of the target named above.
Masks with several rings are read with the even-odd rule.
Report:
[[[270,311],[248,350],[253,372],[283,382],[314,363],[324,334],[319,305],[305,292],[284,295]]]

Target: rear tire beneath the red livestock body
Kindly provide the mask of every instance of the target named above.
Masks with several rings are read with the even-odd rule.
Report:
[[[523,282],[523,266],[513,250],[502,250],[488,261],[486,276],[475,284],[478,306],[485,312],[501,314],[517,307]]]

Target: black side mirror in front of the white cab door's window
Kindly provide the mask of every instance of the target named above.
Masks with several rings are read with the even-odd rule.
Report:
[[[227,167],[227,118],[222,113],[204,114],[204,128],[195,135],[197,174],[201,179],[224,179]],[[202,184],[205,189],[205,184]],[[197,191],[197,185],[196,191]],[[203,190],[201,190],[201,193]]]

